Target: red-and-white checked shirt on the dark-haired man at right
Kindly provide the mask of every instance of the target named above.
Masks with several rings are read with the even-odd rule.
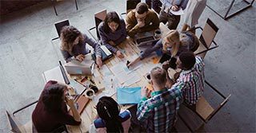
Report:
[[[196,63],[190,70],[182,70],[172,88],[180,88],[186,104],[196,104],[205,88],[204,63],[202,58],[196,56]]]

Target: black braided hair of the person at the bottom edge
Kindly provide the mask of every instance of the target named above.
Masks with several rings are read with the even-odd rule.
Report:
[[[120,121],[120,107],[111,97],[103,96],[96,105],[98,116],[106,123],[107,132],[123,132]]]

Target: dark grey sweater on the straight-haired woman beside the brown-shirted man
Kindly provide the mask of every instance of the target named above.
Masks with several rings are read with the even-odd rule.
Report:
[[[114,48],[113,45],[110,45],[108,42],[113,41],[116,45],[119,45],[122,41],[126,39],[126,23],[123,19],[120,19],[120,25],[118,29],[112,33],[106,33],[103,27],[104,22],[98,25],[98,33],[101,37],[102,45],[106,45],[106,48],[109,49],[112,53],[116,53],[118,49]]]

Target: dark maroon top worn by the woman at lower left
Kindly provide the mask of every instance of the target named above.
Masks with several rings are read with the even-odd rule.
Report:
[[[57,81],[48,81],[44,89],[47,89],[51,84],[57,84]],[[75,121],[74,117],[68,114],[64,101],[62,103],[62,111],[47,111],[45,105],[42,102],[42,94],[38,100],[37,106],[34,108],[32,121],[38,132],[50,132],[54,131],[54,129],[58,127],[61,127],[62,125],[79,125],[81,123]]]

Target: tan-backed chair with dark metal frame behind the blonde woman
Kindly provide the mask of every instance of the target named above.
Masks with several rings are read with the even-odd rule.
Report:
[[[214,23],[208,18],[206,21],[205,27],[196,27],[194,29],[201,29],[202,33],[199,37],[200,45],[198,49],[194,52],[196,55],[204,58],[206,56],[206,52],[211,49],[215,49],[218,47],[217,43],[214,41],[214,37],[218,33],[218,27],[214,25]],[[191,30],[194,30],[193,28]],[[210,47],[211,44],[214,43],[213,47]]]

